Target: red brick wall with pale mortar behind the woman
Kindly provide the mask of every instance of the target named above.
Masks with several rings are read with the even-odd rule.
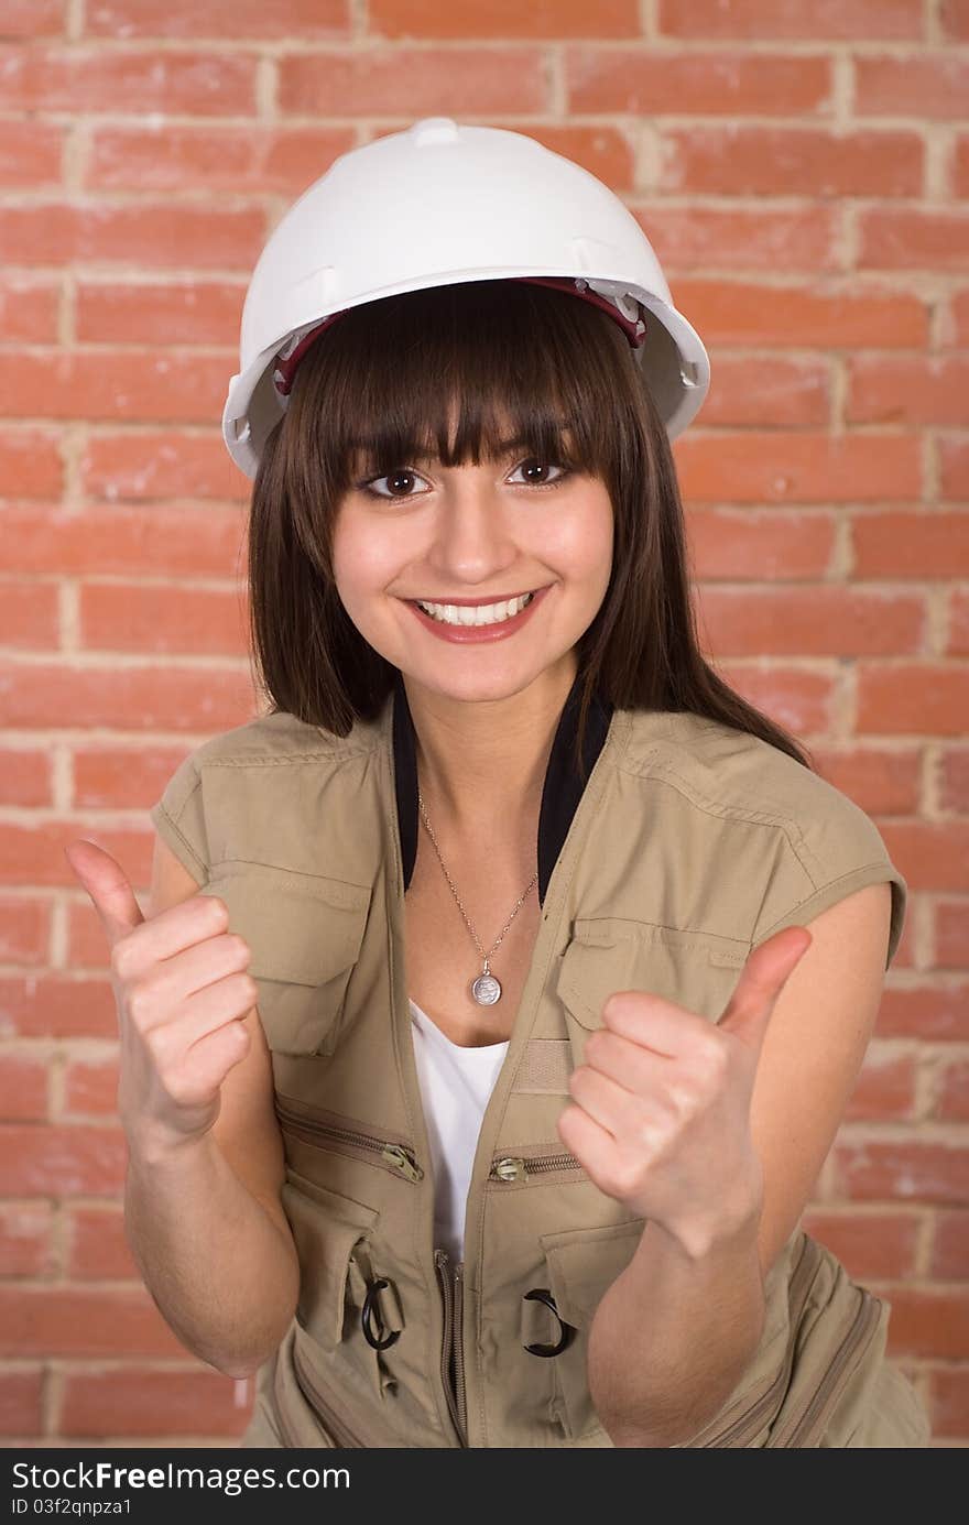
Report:
[[[116,1019],[63,846],[253,712],[221,444],[249,271],[343,149],[517,127],[624,197],[714,384],[708,651],[879,824],[909,915],[806,1226],[969,1440],[967,0],[0,0],[0,1434],[238,1435],[121,1220]]]

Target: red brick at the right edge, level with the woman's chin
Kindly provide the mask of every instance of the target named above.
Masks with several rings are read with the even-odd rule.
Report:
[[[859,730],[963,735],[969,673],[935,662],[861,665],[856,671]]]

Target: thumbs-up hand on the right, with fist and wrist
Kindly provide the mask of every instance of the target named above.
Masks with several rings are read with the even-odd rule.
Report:
[[[786,927],[754,949],[717,1023],[647,991],[603,1005],[559,1136],[600,1191],[705,1254],[763,1202],[751,1095],[771,1013],[810,947]]]

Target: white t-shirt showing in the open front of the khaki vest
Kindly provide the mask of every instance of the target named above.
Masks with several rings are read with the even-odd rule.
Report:
[[[415,1000],[410,1020],[433,1164],[433,1241],[453,1264],[464,1258],[464,1206],[481,1119],[508,1040],[481,1048],[452,1043]]]

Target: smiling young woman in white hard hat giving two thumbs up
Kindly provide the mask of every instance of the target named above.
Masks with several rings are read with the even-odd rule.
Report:
[[[343,156],[253,273],[270,703],[154,807],[148,920],[72,848],[130,1240],[258,1372],[244,1446],[928,1444],[800,1228],[906,886],[700,654],[707,381],[635,220],[520,134]]]

